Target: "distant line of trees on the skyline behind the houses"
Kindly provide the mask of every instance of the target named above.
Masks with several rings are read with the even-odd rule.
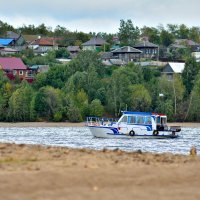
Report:
[[[116,42],[116,40],[113,40],[114,36],[118,36],[121,45],[135,44],[140,37],[148,37],[150,42],[164,47],[169,46],[176,39],[190,39],[194,42],[200,43],[200,27],[198,26],[187,27],[184,24],[167,24],[165,27],[159,25],[157,27],[144,26],[139,28],[135,26],[130,19],[127,21],[123,19],[120,20],[119,31],[114,34],[106,32],[73,32],[68,30],[66,27],[59,25],[53,30],[51,27],[45,26],[45,24],[39,26],[22,25],[22,27],[14,28],[12,25],[0,21],[0,35],[5,36],[6,31],[14,31],[24,35],[62,37],[63,44],[67,46],[81,45],[96,34],[101,35],[110,45],[113,45]]]

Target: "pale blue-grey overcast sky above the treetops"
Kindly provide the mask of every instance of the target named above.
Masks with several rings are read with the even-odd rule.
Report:
[[[0,0],[0,20],[14,27],[44,23],[71,31],[118,32],[120,19],[142,27],[200,26],[200,0]]]

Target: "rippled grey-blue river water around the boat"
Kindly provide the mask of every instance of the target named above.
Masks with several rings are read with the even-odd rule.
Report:
[[[89,149],[116,149],[124,151],[171,152],[189,154],[195,146],[200,151],[200,128],[182,128],[176,139],[102,139],[94,138],[87,127],[0,128],[1,143],[41,144]],[[198,153],[200,154],[200,153]]]

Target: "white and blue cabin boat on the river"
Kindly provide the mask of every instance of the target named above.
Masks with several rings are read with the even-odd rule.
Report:
[[[158,113],[123,111],[117,122],[87,117],[86,125],[99,138],[177,138],[180,126],[167,125],[167,116]]]

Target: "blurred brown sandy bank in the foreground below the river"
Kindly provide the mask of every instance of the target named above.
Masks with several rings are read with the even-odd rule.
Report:
[[[199,170],[199,156],[0,144],[0,199],[199,200]]]

